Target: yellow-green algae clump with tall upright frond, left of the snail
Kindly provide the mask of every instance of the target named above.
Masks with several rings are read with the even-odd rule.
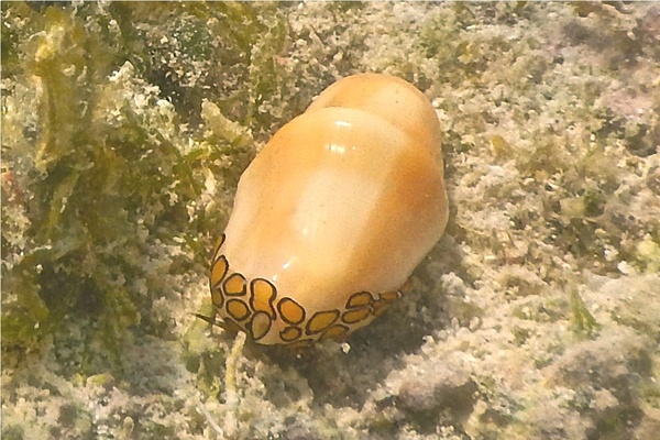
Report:
[[[138,298],[120,279],[144,273],[140,260],[147,255],[141,230],[155,226],[160,217],[176,216],[176,208],[180,210],[180,206],[168,212],[163,209],[151,213],[151,224],[144,222],[138,212],[163,205],[163,193],[179,177],[162,175],[165,178],[156,177],[160,182],[150,185],[141,176],[157,175],[158,168],[172,167],[180,155],[166,142],[158,142],[164,140],[147,142],[148,129],[130,121],[111,128],[95,118],[106,110],[98,107],[106,90],[97,82],[109,74],[109,66],[100,65],[109,48],[90,36],[94,34],[84,29],[79,18],[61,9],[48,8],[40,19],[45,30],[26,48],[24,56],[31,62],[23,74],[36,78],[35,87],[41,89],[35,148],[12,148],[13,142],[25,140],[3,144],[6,158],[34,166],[16,180],[31,218],[26,234],[32,240],[22,249],[3,250],[4,255],[20,253],[3,287],[6,292],[32,292],[18,295],[21,299],[15,305],[37,314],[40,306],[45,307],[48,314],[42,312],[42,319],[34,319],[32,312],[23,320],[3,319],[3,345],[24,345],[28,336],[10,337],[29,333],[29,328],[53,331],[68,316],[82,312],[98,320],[98,337],[114,346],[119,359],[127,329],[140,321]],[[142,169],[131,166],[155,147],[164,154],[151,163],[142,161]],[[190,193],[191,188],[178,186],[177,194]],[[118,246],[124,252],[117,253]],[[4,316],[13,315],[13,304],[3,307]]]

